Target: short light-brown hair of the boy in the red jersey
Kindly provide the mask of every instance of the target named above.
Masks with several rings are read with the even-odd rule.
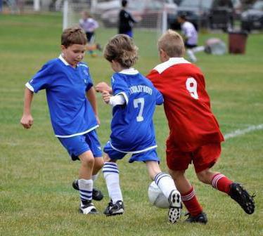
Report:
[[[172,29],[162,34],[158,40],[158,49],[162,49],[170,58],[181,58],[184,55],[184,40]]]

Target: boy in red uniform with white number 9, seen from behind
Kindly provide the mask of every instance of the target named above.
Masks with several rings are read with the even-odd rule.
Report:
[[[158,41],[158,50],[162,63],[147,77],[165,100],[170,131],[167,166],[188,210],[186,221],[207,223],[193,185],[184,175],[191,163],[200,181],[226,192],[247,214],[252,214],[255,210],[254,196],[250,196],[239,183],[210,170],[219,158],[224,137],[210,108],[203,73],[183,58],[184,41],[177,32],[170,29],[165,32]]]

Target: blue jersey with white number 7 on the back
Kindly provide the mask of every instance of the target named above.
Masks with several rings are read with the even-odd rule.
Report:
[[[122,70],[111,79],[113,95],[122,94],[124,105],[113,107],[110,145],[121,152],[145,152],[157,147],[153,126],[155,105],[162,94],[137,70]]]

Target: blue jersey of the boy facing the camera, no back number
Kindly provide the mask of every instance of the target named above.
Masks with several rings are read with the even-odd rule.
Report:
[[[34,93],[46,89],[56,137],[69,138],[98,127],[94,110],[86,99],[86,91],[93,86],[86,64],[71,67],[60,55],[46,63],[26,86]]]

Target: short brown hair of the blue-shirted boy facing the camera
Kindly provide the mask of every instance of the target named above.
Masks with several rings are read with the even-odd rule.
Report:
[[[70,27],[65,29],[61,34],[61,45],[68,48],[72,44],[86,45],[87,39],[86,34],[80,27]]]

